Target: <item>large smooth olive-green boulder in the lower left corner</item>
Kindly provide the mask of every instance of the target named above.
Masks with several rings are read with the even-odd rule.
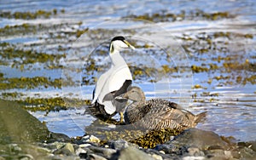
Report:
[[[15,102],[0,100],[0,144],[42,142],[49,130]]]

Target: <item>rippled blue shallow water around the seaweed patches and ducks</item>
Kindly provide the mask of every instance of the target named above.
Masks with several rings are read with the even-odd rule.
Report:
[[[207,6],[207,8],[205,7]],[[58,28],[49,27],[49,29],[38,29],[36,33],[20,34],[9,34],[0,37],[1,43],[13,43],[20,49],[34,49],[47,54],[63,54],[67,53],[66,59],[63,58],[59,61],[62,66],[68,66],[67,68],[77,69],[84,64],[84,60],[76,61],[76,64],[69,63],[68,60],[76,60],[79,56],[82,58],[86,57],[86,53],[90,53],[90,49],[94,49],[95,45],[99,45],[103,42],[106,47],[108,39],[113,37],[111,31],[108,33],[103,32],[98,35],[91,36],[89,33],[87,36],[85,33],[84,37],[65,37],[68,31],[74,31],[76,29],[84,28],[105,28],[109,30],[117,31],[121,29],[128,29],[129,31],[136,30],[137,33],[130,35],[130,40],[134,40],[137,44],[152,43],[154,48],[152,50],[147,48],[136,49],[137,54],[123,54],[127,63],[131,66],[150,66],[159,68],[161,65],[168,64],[170,67],[174,66],[186,66],[189,69],[190,66],[206,66],[209,68],[210,64],[218,66],[216,70],[209,71],[182,71],[166,75],[162,81],[158,83],[149,83],[148,79],[156,78],[160,76],[160,73],[152,73],[149,77],[137,77],[135,84],[142,87],[146,93],[148,99],[154,97],[166,98],[168,100],[175,101],[182,104],[183,107],[192,111],[193,113],[199,113],[201,111],[207,111],[207,120],[204,123],[200,123],[197,128],[212,130],[218,134],[225,136],[234,136],[237,140],[255,140],[256,135],[256,85],[255,77],[253,83],[247,82],[246,84],[236,83],[238,76],[242,78],[252,77],[255,75],[255,63],[256,63],[256,3],[253,0],[236,1],[230,0],[223,3],[223,1],[1,1],[1,11],[37,11],[38,9],[52,10],[57,9],[58,14],[51,16],[49,19],[38,18],[35,20],[15,20],[0,18],[0,27],[4,26],[15,26],[24,23],[38,25],[43,24],[45,26],[65,24]],[[65,9],[64,13],[61,13],[61,9]],[[156,26],[149,27],[148,23],[143,21],[135,22],[128,21],[123,22],[122,20],[116,20],[117,18],[125,17],[127,15],[135,14],[154,14],[162,13],[163,10],[171,12],[173,14],[181,13],[185,10],[186,13],[189,11],[195,11],[201,9],[206,13],[213,12],[228,12],[229,14],[236,15],[235,18],[221,19],[221,20],[201,20],[192,18],[191,20],[177,20],[177,21],[165,21],[158,22]],[[110,20],[107,21],[106,20]],[[111,21],[112,20],[112,21]],[[121,21],[121,22],[120,22]],[[82,22],[81,25],[78,25]],[[102,22],[105,22],[102,24]],[[152,25],[152,24],[151,24]],[[150,26],[150,25],[149,25]],[[155,30],[154,30],[155,29]],[[148,30],[148,32],[147,32]],[[140,32],[140,37],[146,37],[148,33],[154,33],[152,37],[154,39],[143,39],[140,40],[137,36]],[[165,34],[167,32],[167,34]],[[212,43],[217,45],[207,46],[204,41],[207,37],[214,35],[216,32],[231,32],[234,33],[228,37],[214,37]],[[235,34],[236,33],[236,34]],[[253,38],[244,38],[240,34],[252,34]],[[64,35],[64,36],[63,36]],[[177,46],[182,49],[180,44],[191,45],[189,41],[183,41],[179,37],[192,37],[202,39],[202,41],[193,41],[192,47],[186,53],[182,50],[181,55],[172,54],[170,62],[166,60],[166,53],[162,54],[158,52],[160,46],[157,44],[164,43],[166,37],[170,38],[177,37],[174,44],[170,44],[171,47],[176,48]],[[210,35],[210,36],[209,36]],[[56,38],[56,37],[62,38]],[[106,38],[105,38],[106,37]],[[212,36],[213,37],[213,36]],[[83,39],[84,38],[84,39]],[[91,43],[92,39],[95,40]],[[151,41],[149,41],[151,40]],[[85,43],[84,43],[85,42]],[[100,43],[101,42],[101,43]],[[60,46],[65,51],[61,51]],[[195,49],[193,49],[195,46]],[[198,53],[198,49],[208,49],[206,53]],[[219,48],[215,49],[215,48]],[[102,49],[102,48],[101,48]],[[224,50],[225,49],[225,50]],[[152,54],[157,50],[156,54]],[[195,50],[195,52],[194,52]],[[75,52],[83,54],[74,54]],[[148,56],[150,54],[150,56]],[[73,56],[72,56],[73,55]],[[231,57],[231,60],[216,60],[218,57]],[[98,65],[108,64],[107,54],[93,55],[93,58],[97,59]],[[148,58],[150,57],[150,58]],[[25,59],[25,58],[24,58]],[[141,60],[143,59],[143,62]],[[182,59],[182,60],[179,60]],[[99,60],[102,60],[100,62]],[[228,66],[224,68],[224,63],[246,63],[249,61],[250,66],[243,65],[242,67]],[[54,61],[55,62],[55,61]],[[102,64],[101,64],[102,63]],[[71,96],[79,97],[83,99],[90,99],[90,94],[93,89],[93,84],[84,84],[81,86],[81,77],[87,76],[87,72],[75,72],[69,71],[67,68],[51,69],[49,66],[52,64],[47,63],[35,63],[32,67],[25,66],[24,71],[20,71],[18,68],[9,66],[0,66],[0,69],[4,77],[51,77],[64,78],[65,73],[73,77],[73,80],[77,80],[78,83],[73,84],[71,88],[62,86],[61,89],[55,89],[50,86],[47,89],[35,88],[35,89],[8,89],[1,90],[0,93],[12,93],[18,92],[25,94],[20,99],[26,97],[44,98],[44,97],[55,97],[55,96]],[[46,66],[46,68],[45,68]],[[230,70],[230,71],[228,71]],[[145,70],[143,70],[145,71]],[[91,77],[98,77],[101,72],[92,72]],[[229,78],[221,78],[230,76]],[[218,78],[219,77],[219,78]],[[211,80],[211,83],[207,83]],[[65,80],[64,80],[65,81]],[[233,82],[233,83],[229,83]],[[203,89],[191,89],[196,84],[200,84]],[[38,95],[39,94],[39,95]],[[195,96],[196,94],[196,96]],[[214,95],[215,94],[215,95]],[[193,98],[192,98],[192,95]],[[18,97],[19,99],[19,97]],[[85,107],[85,106],[84,106]],[[61,132],[69,136],[76,136],[84,134],[84,128],[89,126],[90,123],[95,120],[90,115],[84,115],[84,107],[77,109],[68,109],[67,111],[50,111],[48,114],[45,111],[35,111],[32,115],[38,117],[39,120],[47,123],[49,129],[54,132]]]

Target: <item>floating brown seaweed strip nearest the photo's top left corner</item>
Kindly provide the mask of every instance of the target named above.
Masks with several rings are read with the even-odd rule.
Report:
[[[61,13],[64,13],[65,10],[61,9]],[[35,12],[0,12],[0,17],[7,19],[23,19],[23,20],[34,20],[38,18],[49,19],[51,16],[56,15],[58,13],[57,9],[53,9],[51,11],[46,10],[37,10]]]

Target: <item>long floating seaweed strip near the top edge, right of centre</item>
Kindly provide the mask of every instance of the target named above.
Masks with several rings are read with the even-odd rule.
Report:
[[[131,14],[131,15],[125,16],[125,18],[135,18],[135,19],[149,20],[154,22],[180,21],[180,20],[221,20],[221,19],[230,19],[234,17],[235,15],[232,15],[228,12],[206,13],[199,9],[196,9],[190,12],[182,10],[178,14],[168,13],[164,11],[162,13],[142,14],[142,15]]]

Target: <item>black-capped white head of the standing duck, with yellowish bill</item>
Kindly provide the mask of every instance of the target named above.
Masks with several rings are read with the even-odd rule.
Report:
[[[130,43],[128,43],[125,40],[125,37],[122,37],[122,36],[113,37],[109,47],[110,54],[113,54],[114,50],[119,51],[121,49],[127,49],[127,48],[135,49]]]

